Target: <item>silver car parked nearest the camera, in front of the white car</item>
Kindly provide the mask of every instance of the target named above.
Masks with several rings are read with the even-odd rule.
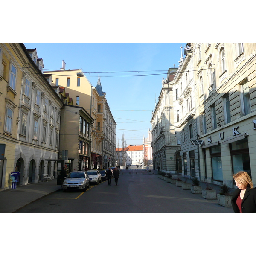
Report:
[[[87,172],[70,172],[65,178],[62,188],[63,191],[82,189],[84,191],[89,187],[89,176]]]

